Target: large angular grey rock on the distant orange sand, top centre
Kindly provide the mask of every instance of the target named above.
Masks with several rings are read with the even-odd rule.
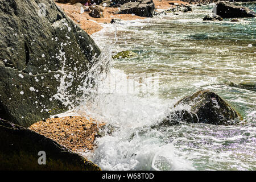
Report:
[[[118,14],[135,14],[138,16],[152,17],[154,9],[155,5],[152,0],[140,0],[123,4]]]

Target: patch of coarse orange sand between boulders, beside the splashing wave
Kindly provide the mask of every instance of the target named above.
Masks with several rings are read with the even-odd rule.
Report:
[[[44,135],[57,143],[77,152],[93,150],[94,140],[104,123],[85,117],[61,117],[39,121],[30,130]]]

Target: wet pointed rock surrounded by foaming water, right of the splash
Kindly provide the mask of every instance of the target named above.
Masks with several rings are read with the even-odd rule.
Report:
[[[189,109],[180,109],[184,105]],[[182,122],[233,125],[240,120],[241,115],[220,96],[209,90],[200,90],[177,102],[158,126],[171,126]]]

